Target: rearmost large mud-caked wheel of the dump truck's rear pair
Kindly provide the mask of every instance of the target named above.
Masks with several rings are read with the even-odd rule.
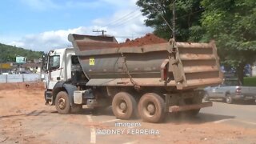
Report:
[[[165,118],[164,100],[154,93],[142,95],[138,102],[138,112],[145,122],[161,122]]]

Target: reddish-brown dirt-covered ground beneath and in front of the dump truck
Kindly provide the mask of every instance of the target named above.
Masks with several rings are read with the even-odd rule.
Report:
[[[218,107],[196,118],[170,115],[160,124],[122,121],[110,108],[63,115],[44,105],[42,84],[0,85],[0,143],[256,143],[254,122],[224,122],[232,118]]]

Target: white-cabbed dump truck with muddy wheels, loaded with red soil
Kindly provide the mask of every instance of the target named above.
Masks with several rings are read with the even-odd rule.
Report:
[[[112,106],[116,118],[162,122],[167,113],[196,115],[203,88],[222,83],[214,42],[120,46],[113,36],[69,34],[72,48],[50,50],[46,104],[59,114]]]

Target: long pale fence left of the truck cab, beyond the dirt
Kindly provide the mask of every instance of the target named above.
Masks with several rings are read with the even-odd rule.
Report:
[[[36,82],[42,80],[42,74],[0,74],[0,83]]]

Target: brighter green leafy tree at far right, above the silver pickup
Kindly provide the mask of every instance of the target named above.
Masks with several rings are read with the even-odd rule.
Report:
[[[204,39],[214,38],[222,64],[234,66],[243,83],[246,64],[256,60],[255,0],[202,0]]]

